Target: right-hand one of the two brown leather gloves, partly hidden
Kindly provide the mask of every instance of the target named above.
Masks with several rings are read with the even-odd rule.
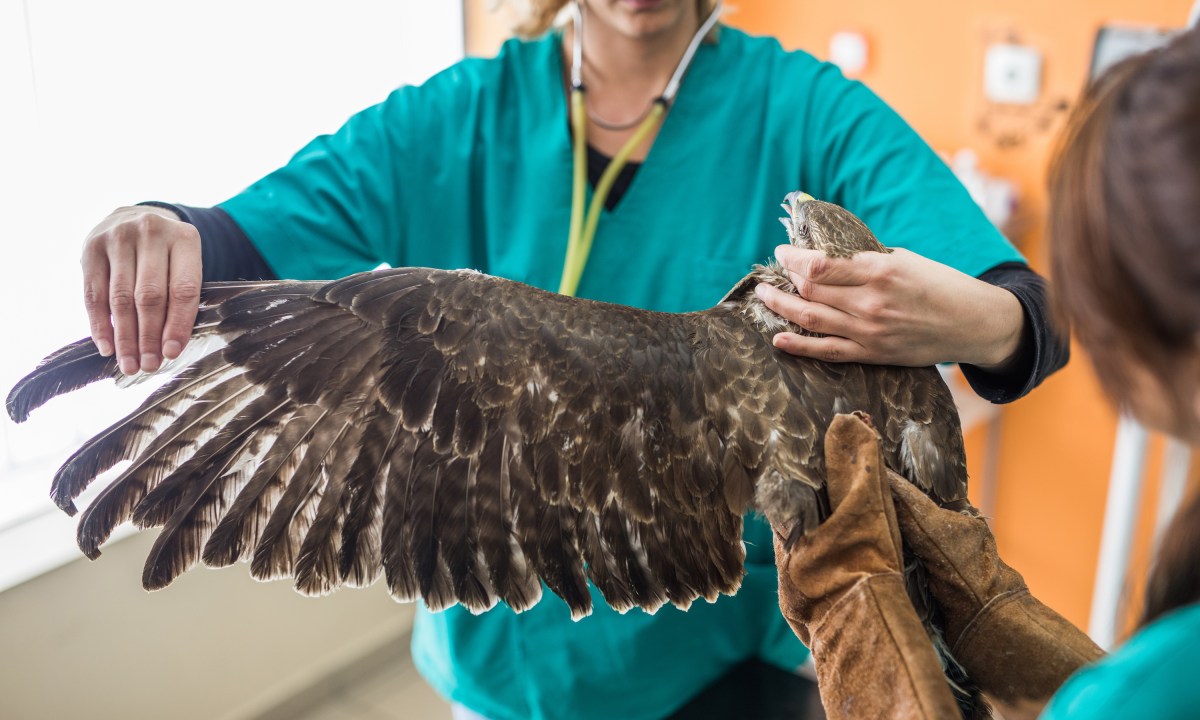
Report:
[[[925,565],[954,656],[1006,716],[1036,716],[1068,676],[1104,652],[1030,594],[982,517],[938,508],[890,478],[900,530]]]

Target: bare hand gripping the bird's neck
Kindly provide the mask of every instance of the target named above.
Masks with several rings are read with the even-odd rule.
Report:
[[[775,347],[829,362],[1002,367],[1016,353],[1025,313],[1016,296],[906,250],[830,258],[784,245],[775,258],[798,295],[758,286],[763,302],[824,337],[775,335]]]

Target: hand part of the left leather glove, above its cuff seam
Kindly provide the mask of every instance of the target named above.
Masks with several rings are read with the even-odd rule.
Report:
[[[811,636],[829,610],[862,581],[904,566],[900,527],[888,490],[880,437],[859,414],[836,415],[824,438],[832,515],[786,547],[775,528],[779,605],[797,636]]]

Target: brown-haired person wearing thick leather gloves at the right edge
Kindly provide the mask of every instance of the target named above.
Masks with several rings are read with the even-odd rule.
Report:
[[[1117,406],[1189,443],[1200,443],[1198,228],[1200,31],[1190,30],[1088,89],[1050,173],[1060,314]],[[937,508],[882,467],[868,422],[835,420],[826,454],[838,508],[792,552],[776,542],[776,558],[780,607],[811,640],[829,716],[954,714],[895,583],[900,542],[925,565],[955,658],[1006,718],[1196,716],[1200,497],[1163,535],[1136,634],[1102,659],[1000,559],[982,518]]]

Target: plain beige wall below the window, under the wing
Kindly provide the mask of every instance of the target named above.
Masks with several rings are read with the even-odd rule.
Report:
[[[379,584],[304,598],[238,565],[146,593],[151,540],[134,535],[0,593],[0,718],[254,718],[407,642],[413,606]]]

